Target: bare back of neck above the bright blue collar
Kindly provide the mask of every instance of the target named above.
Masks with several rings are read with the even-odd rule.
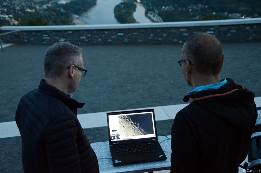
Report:
[[[206,75],[196,75],[192,79],[192,85],[194,88],[200,86],[206,86],[210,84],[216,84],[220,82],[220,76],[206,76]]]

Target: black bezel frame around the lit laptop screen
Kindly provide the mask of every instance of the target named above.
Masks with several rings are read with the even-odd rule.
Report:
[[[128,113],[142,113],[142,112],[152,112],[152,114],[153,114],[153,122],[154,122],[154,127],[155,127],[155,137],[110,141],[110,126],[109,126],[109,116],[110,115],[119,115],[119,114],[128,114]],[[142,110],[134,110],[134,111],[108,112],[107,113],[107,124],[108,124],[108,139],[109,139],[110,145],[129,144],[129,143],[136,143],[136,142],[146,142],[146,141],[152,141],[152,140],[156,141],[156,140],[158,140],[154,109],[142,109]]]

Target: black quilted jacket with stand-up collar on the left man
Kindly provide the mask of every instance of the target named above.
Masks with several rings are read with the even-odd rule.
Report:
[[[22,136],[24,172],[99,172],[77,119],[77,108],[83,106],[44,80],[21,98],[15,121]]]

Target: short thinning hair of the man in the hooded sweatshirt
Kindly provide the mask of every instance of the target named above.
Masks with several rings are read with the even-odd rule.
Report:
[[[193,62],[202,74],[218,75],[223,66],[224,53],[220,41],[208,33],[197,33],[189,37],[182,48],[183,60]]]

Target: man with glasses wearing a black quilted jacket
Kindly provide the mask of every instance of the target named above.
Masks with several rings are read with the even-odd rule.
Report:
[[[84,69],[81,48],[55,43],[45,54],[46,78],[24,95],[15,121],[22,137],[24,172],[99,172],[97,157],[77,119],[75,92]]]

